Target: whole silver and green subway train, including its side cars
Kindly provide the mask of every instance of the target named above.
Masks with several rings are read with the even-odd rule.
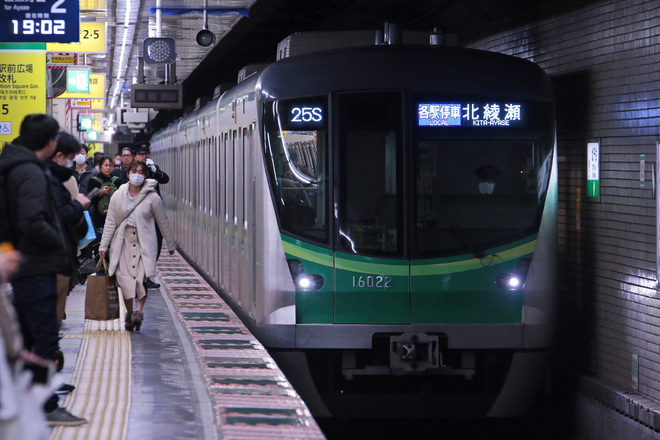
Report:
[[[555,319],[549,77],[311,35],[153,134],[181,252],[316,416],[525,414]]]

